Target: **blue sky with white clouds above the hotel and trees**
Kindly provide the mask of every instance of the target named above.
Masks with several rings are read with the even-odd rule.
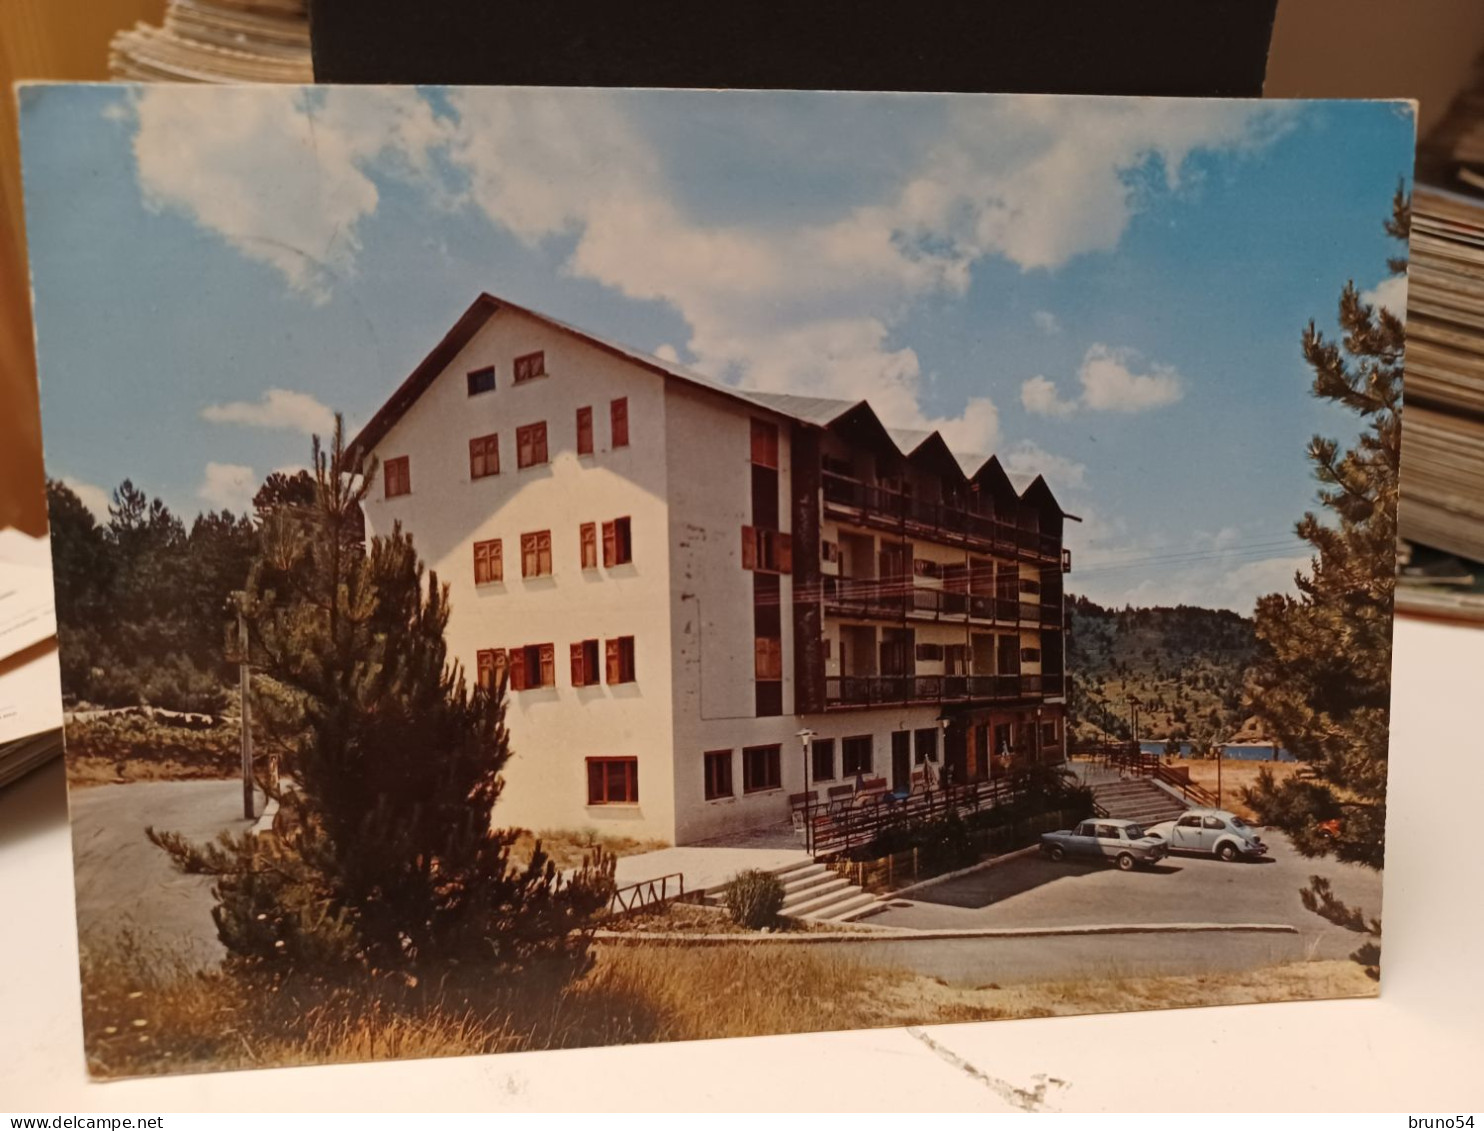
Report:
[[[242,509],[488,289],[1045,473],[1074,592],[1250,612],[1309,438],[1358,430],[1300,332],[1404,295],[1398,104],[47,86],[21,125],[47,465],[95,509]]]

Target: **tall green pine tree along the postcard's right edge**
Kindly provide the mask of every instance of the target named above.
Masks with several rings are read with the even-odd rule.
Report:
[[[1398,188],[1386,232],[1405,240],[1408,215]],[[1393,273],[1405,266],[1405,258],[1389,260]],[[1298,595],[1257,603],[1263,650],[1250,692],[1307,773],[1279,785],[1264,772],[1248,803],[1304,855],[1380,868],[1405,331],[1391,310],[1362,301],[1353,282],[1340,295],[1339,316],[1339,340],[1309,324],[1303,356],[1313,395],[1353,411],[1364,430],[1347,450],[1322,436],[1309,444],[1328,514],[1310,512],[1297,524],[1313,548],[1309,573],[1296,577]]]

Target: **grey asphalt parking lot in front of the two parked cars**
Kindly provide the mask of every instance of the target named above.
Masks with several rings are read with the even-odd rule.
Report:
[[[1171,855],[1150,868],[1020,856],[925,888],[870,919],[871,925],[1042,928],[1146,923],[1287,923],[1304,957],[1346,957],[1361,937],[1304,910],[1298,891],[1325,876],[1334,894],[1380,914],[1382,877],[1353,864],[1304,859],[1281,833],[1264,831],[1261,861],[1223,864]],[[1217,937],[1205,937],[1217,945]]]

